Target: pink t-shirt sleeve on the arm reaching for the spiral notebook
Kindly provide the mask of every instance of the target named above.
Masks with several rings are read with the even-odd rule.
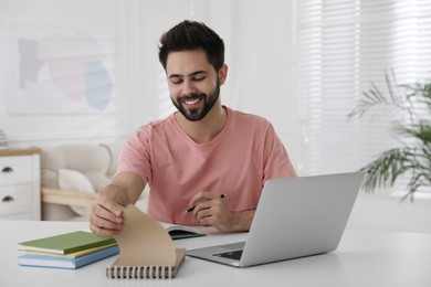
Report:
[[[146,127],[141,127],[130,136],[119,155],[115,176],[123,172],[133,172],[139,176],[144,182],[149,181],[151,178],[151,145],[149,138],[149,130]]]

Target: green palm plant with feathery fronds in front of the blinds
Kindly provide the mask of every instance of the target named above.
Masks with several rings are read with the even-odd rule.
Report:
[[[402,120],[392,124],[392,131],[400,147],[383,151],[361,168],[366,172],[362,187],[365,191],[392,187],[403,176],[408,179],[404,198],[413,200],[421,187],[431,187],[431,82],[398,85],[393,71],[385,78],[387,94],[371,83],[348,117],[362,117],[378,106],[397,109]]]

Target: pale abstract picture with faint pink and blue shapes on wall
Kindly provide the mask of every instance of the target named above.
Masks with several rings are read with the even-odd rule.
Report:
[[[9,115],[109,114],[115,100],[115,34],[11,23]]]

